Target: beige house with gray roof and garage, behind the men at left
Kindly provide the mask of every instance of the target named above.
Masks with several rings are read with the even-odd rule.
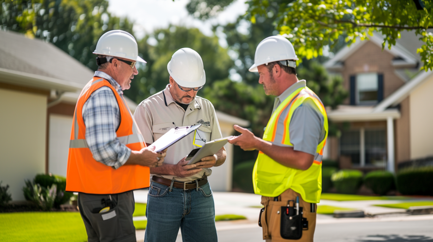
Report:
[[[79,93],[94,72],[40,39],[0,31],[0,181],[13,201],[23,201],[24,180],[36,174],[66,176],[71,124]],[[136,103],[126,98],[135,111]],[[249,122],[217,112],[224,136]],[[214,169],[215,191],[231,190],[233,147]],[[218,177],[217,177],[218,176]]]

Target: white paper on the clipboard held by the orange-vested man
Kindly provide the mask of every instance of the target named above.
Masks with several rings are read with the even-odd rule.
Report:
[[[200,127],[201,124],[194,126],[175,127],[153,142],[150,146],[155,146],[155,152],[165,150],[168,146],[178,142],[183,137],[191,134],[192,131]]]

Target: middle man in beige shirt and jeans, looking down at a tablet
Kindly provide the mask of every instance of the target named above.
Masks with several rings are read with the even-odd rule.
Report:
[[[211,167],[224,163],[226,150],[223,147],[193,165],[185,161],[191,150],[222,137],[212,103],[196,96],[206,82],[203,61],[196,51],[181,48],[171,57],[167,70],[170,83],[142,101],[134,114],[144,140],[155,142],[176,126],[201,126],[195,135],[168,148],[162,166],[150,169],[153,177],[144,241],[174,242],[180,227],[184,242],[216,242],[215,208],[207,176]]]

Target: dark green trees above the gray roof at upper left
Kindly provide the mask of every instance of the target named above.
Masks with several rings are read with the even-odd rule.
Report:
[[[111,16],[107,0],[0,0],[0,29],[41,38],[93,70],[92,52],[104,32],[132,33],[127,18]]]

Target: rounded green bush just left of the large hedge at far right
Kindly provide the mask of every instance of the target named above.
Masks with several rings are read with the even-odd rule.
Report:
[[[381,196],[395,189],[394,174],[387,171],[368,172],[364,177],[364,185]]]

